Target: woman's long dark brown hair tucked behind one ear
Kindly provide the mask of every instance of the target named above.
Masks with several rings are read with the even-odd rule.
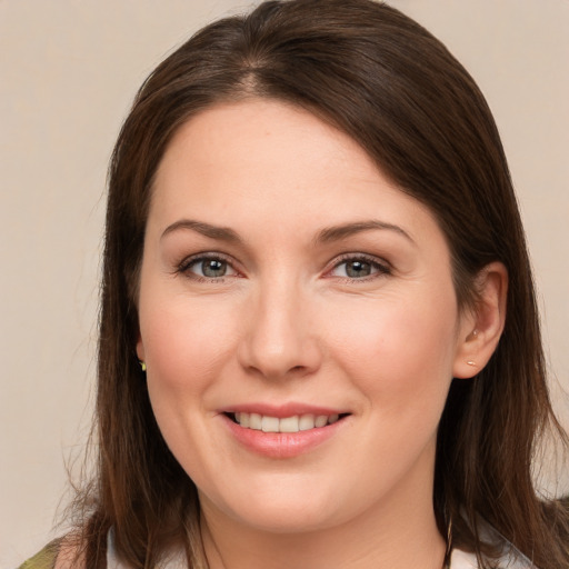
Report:
[[[370,0],[260,4],[214,22],[140,89],[110,166],[99,343],[96,505],[88,567],[113,528],[131,567],[152,567],[172,540],[206,567],[196,488],[167,448],[137,362],[137,288],[152,179],[191,116],[247,97],[308,109],[352,137],[402,191],[427,204],[453,260],[461,306],[491,261],[509,272],[503,336],[475,380],[455,379],[441,418],[433,505],[455,545],[489,553],[485,519],[541,569],[569,567],[566,510],[536,496],[536,442],[556,421],[546,386],[523,230],[496,124],[468,72],[419,24]],[[561,433],[562,436],[562,433]],[[486,558],[485,558],[486,559]]]

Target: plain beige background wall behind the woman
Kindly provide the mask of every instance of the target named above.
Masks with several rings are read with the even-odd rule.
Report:
[[[487,94],[569,389],[569,1],[392,0]],[[46,542],[89,425],[106,164],[136,89],[239,0],[0,0],[0,567]],[[556,402],[561,409],[559,391]],[[61,502],[64,505],[64,501]]]

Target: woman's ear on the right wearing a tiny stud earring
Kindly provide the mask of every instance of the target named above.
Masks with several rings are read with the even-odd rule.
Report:
[[[508,271],[501,262],[486,266],[476,278],[476,306],[460,321],[453,377],[471,378],[490,360],[506,322]]]

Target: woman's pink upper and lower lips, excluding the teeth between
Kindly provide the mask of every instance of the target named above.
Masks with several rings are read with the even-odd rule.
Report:
[[[335,437],[347,423],[347,418],[327,425],[326,427],[299,432],[262,432],[247,429],[234,422],[228,413],[248,412],[270,417],[292,417],[296,415],[340,415],[341,411],[311,405],[290,403],[284,406],[271,406],[264,403],[247,403],[234,406],[220,411],[218,416],[230,436],[246,449],[268,458],[293,458],[311,451]]]

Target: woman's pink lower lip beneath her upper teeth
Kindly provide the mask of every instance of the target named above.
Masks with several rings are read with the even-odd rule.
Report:
[[[342,427],[346,418],[326,427],[298,432],[263,432],[246,429],[226,415],[220,416],[231,435],[247,449],[270,458],[293,458],[322,445]]]

